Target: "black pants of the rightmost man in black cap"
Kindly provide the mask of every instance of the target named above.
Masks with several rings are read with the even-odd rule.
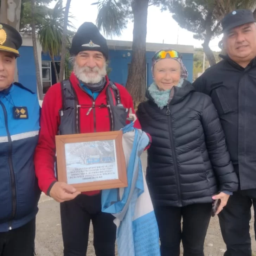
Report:
[[[237,191],[219,214],[220,229],[227,246],[225,256],[251,256],[249,222],[252,204],[256,211],[256,190]]]

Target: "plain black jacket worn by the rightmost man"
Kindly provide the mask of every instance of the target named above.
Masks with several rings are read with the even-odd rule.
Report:
[[[212,98],[242,190],[256,188],[256,58],[242,68],[228,56],[194,83]]]

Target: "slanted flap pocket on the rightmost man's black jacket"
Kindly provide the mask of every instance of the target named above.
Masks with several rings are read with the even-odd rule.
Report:
[[[219,115],[226,114],[232,111],[228,102],[228,98],[226,97],[222,86],[213,89],[211,97]]]

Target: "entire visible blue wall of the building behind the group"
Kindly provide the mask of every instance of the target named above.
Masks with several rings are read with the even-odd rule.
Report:
[[[17,59],[19,82],[33,92],[37,91],[36,82],[36,68],[34,63],[34,54],[32,46],[21,46],[19,49],[20,57]],[[127,53],[132,51],[127,50],[110,50],[109,51],[109,66],[112,69],[110,72],[110,79],[116,83],[125,86],[128,76],[128,63],[131,63],[132,56]],[[147,52],[147,86],[153,82],[151,73],[151,59],[154,52]],[[50,61],[50,56],[46,53],[41,55],[42,61]],[[60,61],[60,57],[55,61]],[[192,82],[193,79],[193,54],[183,53],[183,62],[188,71],[188,81]]]

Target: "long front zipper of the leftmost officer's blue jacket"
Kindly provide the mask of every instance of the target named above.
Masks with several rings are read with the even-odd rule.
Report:
[[[14,168],[13,168],[13,162],[12,162],[12,139],[11,139],[11,134],[8,129],[8,119],[7,119],[6,108],[1,101],[0,101],[0,105],[4,111],[5,128],[6,128],[8,143],[9,143],[8,164],[9,164],[9,168],[10,168],[11,187],[12,187],[12,217],[9,220],[9,230],[12,230],[12,219],[15,217],[16,210],[17,210],[15,174],[14,174]]]

